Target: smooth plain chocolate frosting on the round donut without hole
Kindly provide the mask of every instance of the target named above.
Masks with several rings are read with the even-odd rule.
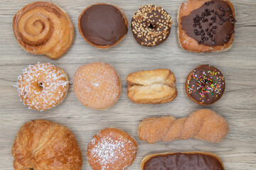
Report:
[[[85,38],[95,45],[114,45],[127,34],[121,11],[109,4],[95,4],[80,16],[80,29]]]

